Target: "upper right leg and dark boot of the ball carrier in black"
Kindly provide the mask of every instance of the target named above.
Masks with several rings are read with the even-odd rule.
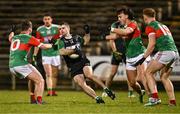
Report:
[[[109,88],[107,88],[107,87],[104,85],[104,83],[97,78],[97,76],[95,76],[95,75],[93,74],[93,72],[92,72],[92,67],[91,67],[91,66],[85,66],[85,67],[83,68],[83,71],[84,71],[85,77],[87,77],[88,79],[94,81],[96,84],[98,84],[99,86],[101,86],[101,87],[104,89],[104,91],[108,94],[108,96],[111,97],[112,100],[115,99],[115,94],[114,94]]]

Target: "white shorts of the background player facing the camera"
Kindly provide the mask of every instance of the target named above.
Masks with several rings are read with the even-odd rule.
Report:
[[[61,65],[61,59],[60,56],[52,56],[52,57],[48,57],[48,56],[43,56],[42,57],[42,64],[49,64],[49,65],[53,65],[53,66],[60,66]]]

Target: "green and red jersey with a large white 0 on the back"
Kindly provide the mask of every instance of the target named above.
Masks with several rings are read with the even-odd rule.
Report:
[[[11,40],[9,67],[28,64],[27,53],[32,46],[41,46],[40,41],[27,34],[15,35]]]

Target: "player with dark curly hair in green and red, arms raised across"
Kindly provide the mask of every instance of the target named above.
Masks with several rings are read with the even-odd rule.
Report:
[[[143,103],[144,91],[141,90],[141,86],[137,82],[137,68],[143,68],[144,65],[134,66],[136,61],[143,56],[145,47],[143,46],[141,39],[141,32],[139,27],[134,21],[134,13],[127,7],[122,7],[117,10],[119,21],[125,26],[125,28],[111,28],[110,34],[106,36],[108,40],[114,40],[119,36],[126,36],[126,73],[130,86],[139,94],[139,100]],[[146,86],[146,85],[145,85]],[[147,86],[146,86],[147,87]]]

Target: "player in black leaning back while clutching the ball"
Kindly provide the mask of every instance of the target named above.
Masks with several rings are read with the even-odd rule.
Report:
[[[103,99],[97,96],[95,91],[86,84],[85,78],[88,78],[100,85],[107,95],[114,100],[115,94],[108,89],[102,81],[96,78],[93,74],[92,67],[90,66],[90,61],[81,50],[82,45],[86,45],[90,41],[89,26],[85,25],[84,30],[85,35],[82,38],[79,35],[70,34],[70,27],[68,23],[63,23],[61,25],[60,33],[62,36],[58,41],[60,55],[62,55],[66,61],[75,83],[78,84],[87,95],[94,98],[97,103],[104,103]]]

